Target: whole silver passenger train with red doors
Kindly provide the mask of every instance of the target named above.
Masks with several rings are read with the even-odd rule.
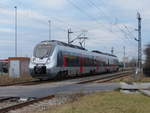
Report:
[[[29,69],[35,78],[52,79],[117,71],[118,59],[59,41],[43,41],[35,47]]]

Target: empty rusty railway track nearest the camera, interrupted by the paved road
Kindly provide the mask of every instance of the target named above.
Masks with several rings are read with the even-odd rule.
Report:
[[[121,78],[121,77],[129,76],[131,73],[132,73],[131,71],[127,71],[127,72],[119,72],[117,74],[116,73],[114,73],[114,74],[108,74],[107,77],[99,77],[99,78],[96,78],[96,79],[82,80],[80,82],[76,82],[76,83],[72,83],[72,84],[86,84],[86,83],[91,83],[91,82],[104,83],[104,82],[109,82],[111,80],[118,79],[118,78]],[[55,95],[50,95],[50,96],[46,96],[46,97],[42,97],[42,98],[37,98],[37,99],[31,99],[31,100],[29,99],[29,100],[27,100],[25,102],[21,102],[21,103],[15,104],[15,105],[10,105],[8,107],[0,108],[0,113],[7,113],[7,112],[9,112],[11,110],[20,109],[22,107],[25,107],[25,106],[28,106],[28,105],[31,105],[31,104],[34,104],[34,103],[38,103],[40,101],[52,99],[54,97],[55,97]],[[13,98],[14,97],[0,98],[0,103],[8,101],[8,100],[11,100]],[[15,99],[17,100],[18,98],[15,98]]]

